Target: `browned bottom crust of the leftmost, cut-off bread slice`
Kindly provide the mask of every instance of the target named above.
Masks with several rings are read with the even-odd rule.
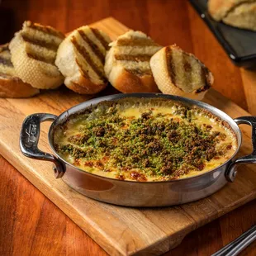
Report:
[[[0,76],[0,97],[32,97],[40,92],[20,78]]]

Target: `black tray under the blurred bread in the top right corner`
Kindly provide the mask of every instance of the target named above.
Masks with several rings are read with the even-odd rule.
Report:
[[[214,21],[207,11],[207,2],[207,0],[190,0],[192,7],[206,22],[233,63],[245,69],[256,69],[256,32]]]

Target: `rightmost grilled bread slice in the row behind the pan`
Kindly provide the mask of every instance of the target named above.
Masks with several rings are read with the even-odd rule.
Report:
[[[166,94],[201,100],[214,80],[199,59],[176,45],[159,50],[150,59],[150,66],[155,83]]]

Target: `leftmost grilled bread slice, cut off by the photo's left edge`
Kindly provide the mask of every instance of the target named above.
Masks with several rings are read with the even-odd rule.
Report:
[[[32,97],[40,91],[17,77],[7,45],[0,45],[0,97]]]

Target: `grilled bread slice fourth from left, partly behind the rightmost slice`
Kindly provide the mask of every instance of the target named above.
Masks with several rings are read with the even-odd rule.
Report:
[[[140,31],[128,31],[111,43],[105,73],[120,92],[159,92],[149,59],[161,48]]]

